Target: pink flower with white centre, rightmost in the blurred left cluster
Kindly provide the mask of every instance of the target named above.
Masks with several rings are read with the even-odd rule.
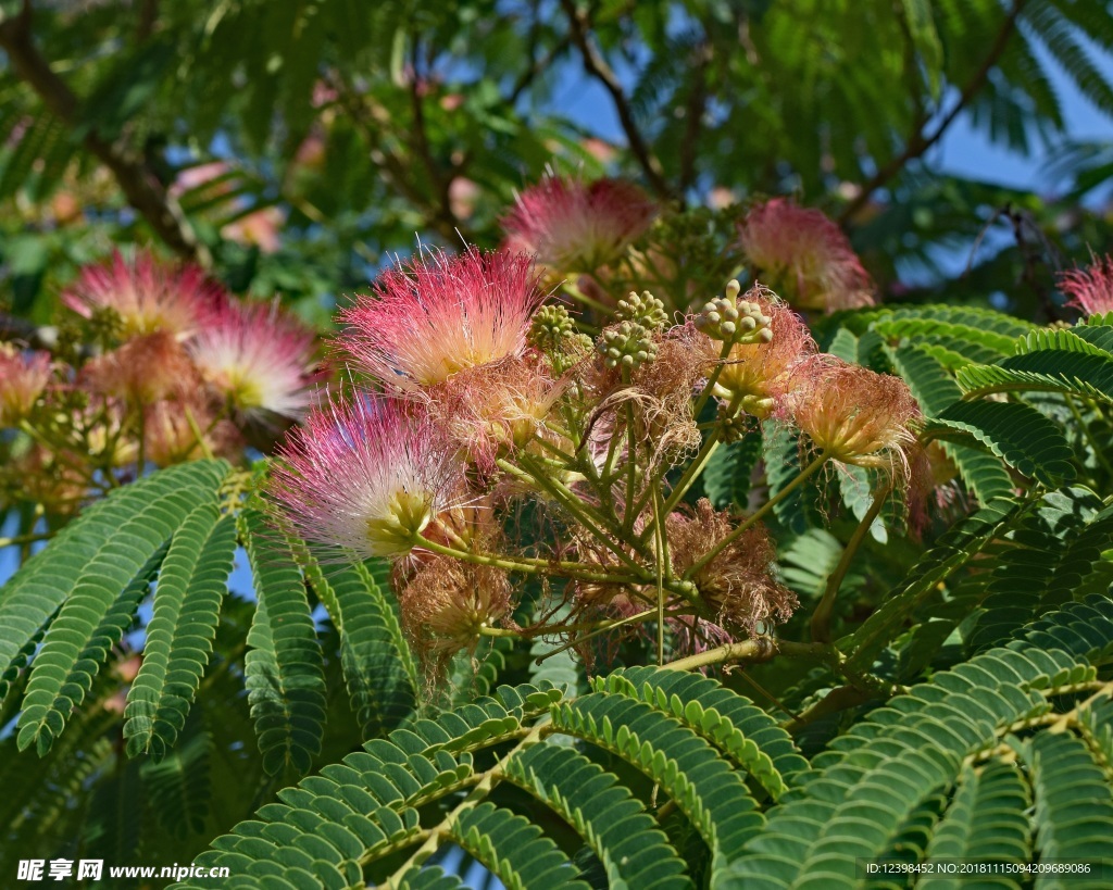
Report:
[[[228,300],[188,344],[201,377],[244,416],[297,419],[309,408],[313,332],[276,305]]]

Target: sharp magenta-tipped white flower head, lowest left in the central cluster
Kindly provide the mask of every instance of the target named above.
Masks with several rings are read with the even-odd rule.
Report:
[[[317,408],[282,448],[270,492],[306,540],[359,558],[401,556],[454,505],[460,469],[405,403]]]

